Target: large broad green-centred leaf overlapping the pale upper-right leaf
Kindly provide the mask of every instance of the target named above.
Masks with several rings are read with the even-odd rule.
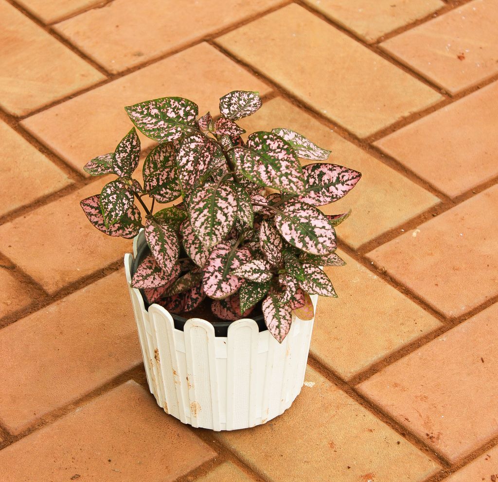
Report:
[[[229,151],[244,177],[253,183],[292,194],[302,194],[304,177],[292,147],[271,132],[249,135],[246,147]]]

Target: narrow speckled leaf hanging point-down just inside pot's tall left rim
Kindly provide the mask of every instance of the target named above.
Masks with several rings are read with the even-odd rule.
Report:
[[[173,228],[167,224],[158,224],[153,219],[147,219],[145,239],[157,264],[166,273],[170,273],[177,263],[180,251],[180,243]]]

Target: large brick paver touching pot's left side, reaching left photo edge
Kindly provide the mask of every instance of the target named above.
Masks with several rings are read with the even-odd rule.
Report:
[[[9,432],[141,362],[123,278],[107,276],[0,331],[0,420]]]

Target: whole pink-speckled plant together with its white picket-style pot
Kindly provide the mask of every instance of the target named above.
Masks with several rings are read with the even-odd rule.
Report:
[[[361,177],[302,167],[298,158],[330,151],[287,128],[244,141],[236,121],[260,106],[246,91],[221,97],[218,118],[181,97],[131,105],[135,127],[158,143],[143,186],[135,127],[85,166],[117,176],[81,207],[105,234],[134,238],[125,271],[150,391],[182,422],[214,430],[264,423],[301,390],[318,295],[337,296],[321,267],[345,264],[335,226],[349,213],[319,206]]]

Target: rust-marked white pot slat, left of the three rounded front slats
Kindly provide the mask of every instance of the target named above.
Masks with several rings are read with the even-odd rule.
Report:
[[[181,391],[177,386],[181,383],[178,379],[178,360],[174,344],[174,323],[171,315],[158,304],[149,308],[149,317],[154,328],[153,340],[157,352],[154,350],[154,358],[158,367],[159,392],[162,393],[162,407],[164,411],[185,423],[183,404],[178,403]],[[181,411],[180,406],[181,405]]]

